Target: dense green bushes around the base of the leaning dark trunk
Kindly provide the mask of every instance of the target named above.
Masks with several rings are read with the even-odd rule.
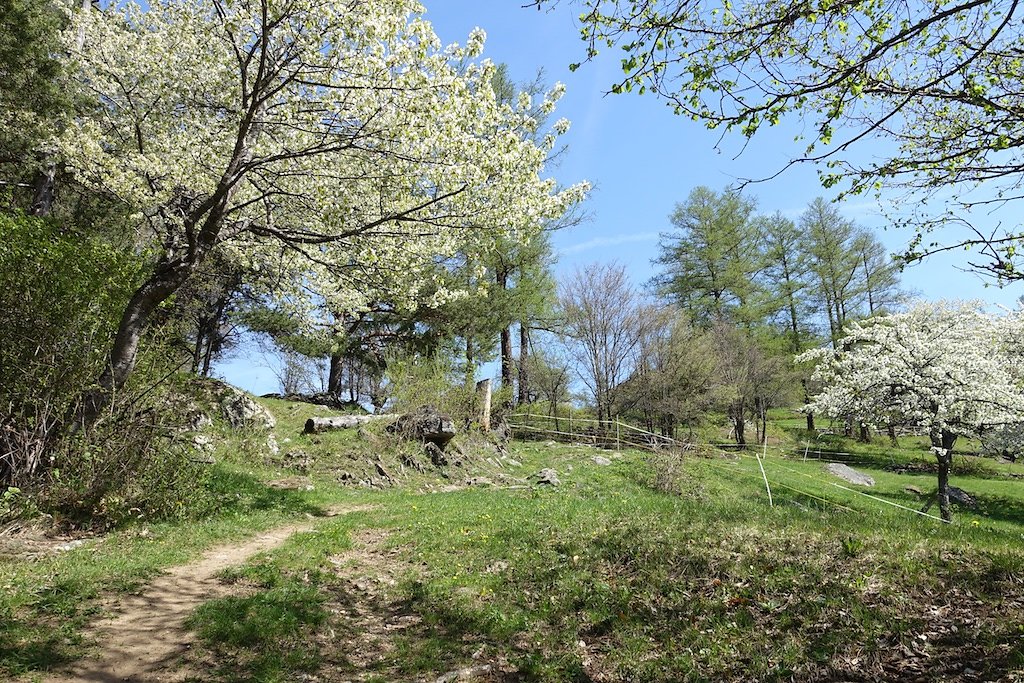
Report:
[[[62,428],[100,375],[142,274],[134,254],[53,221],[0,215],[0,507],[73,523],[188,514],[206,475],[168,398],[179,354],[153,330],[128,385],[86,431]],[[14,488],[10,488],[14,487]],[[8,497],[9,498],[9,497]]]

